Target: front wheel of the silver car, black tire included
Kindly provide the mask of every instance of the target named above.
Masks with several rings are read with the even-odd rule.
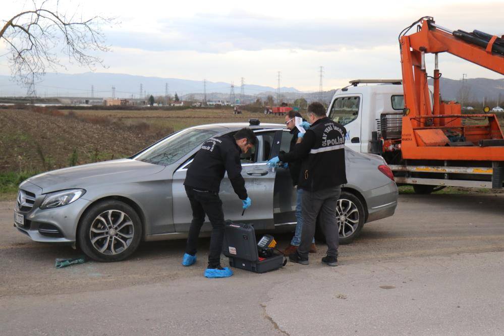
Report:
[[[91,206],[81,218],[77,241],[91,259],[114,262],[128,258],[142,239],[142,223],[128,204],[107,200]]]

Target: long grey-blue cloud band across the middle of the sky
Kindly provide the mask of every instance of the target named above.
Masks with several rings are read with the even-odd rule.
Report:
[[[346,24],[341,21],[288,21],[242,14],[170,19],[156,34],[110,32],[108,40],[121,47],[151,51],[194,50],[222,53],[235,50],[306,49],[334,51],[371,48],[395,42],[401,24]],[[176,32],[176,33],[175,33]]]

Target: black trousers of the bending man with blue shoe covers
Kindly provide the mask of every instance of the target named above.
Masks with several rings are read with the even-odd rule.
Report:
[[[189,228],[187,238],[186,253],[195,255],[198,247],[198,237],[201,226],[205,221],[205,214],[212,224],[212,234],[210,236],[210,251],[208,252],[208,267],[220,266],[220,253],[222,251],[222,241],[224,240],[224,212],[222,211],[222,201],[217,193],[210,191],[198,191],[191,187],[186,187],[186,194],[191,202],[193,219]]]

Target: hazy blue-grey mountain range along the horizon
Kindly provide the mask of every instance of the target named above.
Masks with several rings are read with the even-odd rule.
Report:
[[[231,83],[211,82],[178,79],[145,77],[126,74],[108,73],[82,73],[82,74],[57,74],[47,73],[40,82],[35,84],[37,96],[54,97],[122,97],[139,98],[145,95],[162,96],[165,93],[166,84],[170,95],[176,92],[183,99],[203,99],[203,90],[206,86],[207,100],[224,100],[230,98]],[[432,84],[432,80],[429,80]],[[142,86],[142,93],[140,92]],[[113,89],[115,88],[115,89]],[[462,81],[441,77],[441,97],[443,100],[459,101],[461,97]],[[276,88],[263,85],[245,84],[244,96],[240,95],[240,86],[234,87],[236,98],[244,102],[255,101],[257,98],[265,99],[268,95],[276,96]],[[284,101],[294,101],[304,97],[309,102],[314,100],[329,101],[334,90],[319,92],[302,92],[293,87],[281,87],[281,95]],[[499,101],[504,99],[504,78],[469,78],[464,81],[465,101]],[[26,88],[17,85],[10,76],[0,76],[0,96],[24,96]]]

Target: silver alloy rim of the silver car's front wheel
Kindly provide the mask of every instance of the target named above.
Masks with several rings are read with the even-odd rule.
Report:
[[[126,250],[135,236],[131,218],[121,210],[107,210],[94,218],[89,239],[100,253],[115,255]]]

